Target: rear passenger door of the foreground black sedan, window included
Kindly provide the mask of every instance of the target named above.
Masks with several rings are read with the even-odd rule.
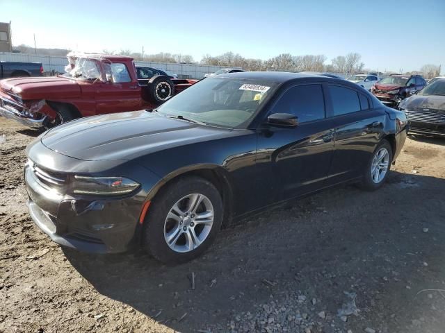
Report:
[[[375,110],[366,93],[332,83],[327,85],[330,117],[335,128],[335,150],[327,185],[362,176],[385,121],[383,109]]]

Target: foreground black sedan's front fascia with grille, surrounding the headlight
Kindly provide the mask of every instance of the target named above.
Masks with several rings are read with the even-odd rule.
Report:
[[[161,178],[138,164],[77,160],[51,151],[39,138],[26,148],[26,154],[33,161],[24,168],[29,212],[53,241],[90,253],[121,253],[139,244],[143,227],[139,217],[148,191]],[[131,175],[141,187],[120,197],[73,196],[70,177],[77,173]]]

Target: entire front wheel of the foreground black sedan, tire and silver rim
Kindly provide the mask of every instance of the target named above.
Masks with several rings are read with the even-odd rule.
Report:
[[[154,198],[144,222],[143,247],[161,262],[187,262],[211,245],[222,221],[218,189],[203,178],[183,178]]]

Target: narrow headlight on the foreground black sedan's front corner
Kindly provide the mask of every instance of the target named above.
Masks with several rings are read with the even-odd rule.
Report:
[[[74,176],[72,188],[75,194],[113,196],[129,194],[139,186],[138,182],[124,177]]]

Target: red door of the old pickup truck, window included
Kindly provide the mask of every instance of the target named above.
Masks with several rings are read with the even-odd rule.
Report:
[[[140,86],[134,70],[126,64],[115,62],[104,64],[109,71],[112,82],[98,86],[96,95],[96,109],[98,114],[139,110],[142,108]]]

